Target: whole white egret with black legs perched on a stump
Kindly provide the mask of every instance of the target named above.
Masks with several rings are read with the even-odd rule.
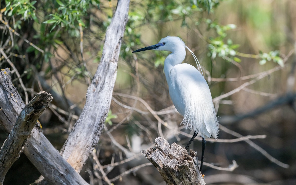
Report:
[[[183,63],[186,55],[184,42],[179,37],[167,36],[158,44],[138,49],[134,52],[145,50],[169,51],[171,54],[164,62],[165,78],[168,82],[169,94],[178,112],[184,116],[182,123],[194,131],[194,135],[186,145],[186,149],[196,136],[202,137],[202,158],[200,171],[205,151],[206,138],[217,139],[219,123],[216,117],[210,88],[203,75],[190,64]],[[195,62],[198,62],[193,55]],[[133,53],[134,53],[133,52]],[[197,65],[198,67],[198,65]]]

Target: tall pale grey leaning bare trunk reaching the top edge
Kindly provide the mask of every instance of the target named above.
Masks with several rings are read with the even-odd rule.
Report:
[[[128,20],[129,2],[118,1],[115,14],[106,31],[101,61],[86,92],[85,106],[61,149],[62,156],[77,172],[80,172],[98,143],[110,109],[121,40]]]

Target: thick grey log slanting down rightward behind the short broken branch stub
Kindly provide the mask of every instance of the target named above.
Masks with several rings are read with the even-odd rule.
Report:
[[[24,107],[25,103],[11,82],[10,69],[1,69],[0,123],[7,133],[12,130],[17,116]],[[33,128],[23,152],[51,184],[87,184],[71,165],[61,157],[57,149],[46,139],[40,129]]]

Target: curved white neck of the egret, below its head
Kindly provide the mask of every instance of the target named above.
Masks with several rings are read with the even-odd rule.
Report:
[[[167,82],[169,83],[170,80],[170,71],[172,68],[177,65],[181,64],[185,58],[186,51],[185,48],[178,49],[177,52],[172,52],[168,55],[165,59],[164,63],[164,71],[165,71],[165,78]]]

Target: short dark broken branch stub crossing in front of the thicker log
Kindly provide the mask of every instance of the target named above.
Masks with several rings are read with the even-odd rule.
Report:
[[[51,94],[39,92],[22,110],[0,150],[0,184],[12,164],[20,157],[22,147],[38,118],[52,101]]]

